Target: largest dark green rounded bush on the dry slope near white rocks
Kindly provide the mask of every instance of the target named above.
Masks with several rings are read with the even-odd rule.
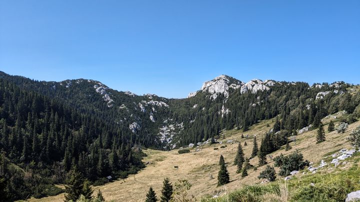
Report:
[[[286,157],[280,154],[280,156],[275,157],[273,161],[275,167],[280,167],[280,176],[288,176],[291,171],[302,170],[305,166],[309,165],[309,162],[307,160],[304,161],[302,154],[297,151]]]

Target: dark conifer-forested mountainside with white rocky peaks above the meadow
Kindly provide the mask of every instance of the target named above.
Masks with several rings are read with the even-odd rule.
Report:
[[[273,138],[284,140],[296,129],[316,128],[328,114],[352,113],[360,94],[348,87],[243,83],[221,75],[188,98],[167,99],[119,92],[94,80],[45,82],[0,72],[0,194],[7,200],[50,195],[73,166],[95,184],[108,175],[123,178],[143,167],[143,147],[196,145],[273,117]]]

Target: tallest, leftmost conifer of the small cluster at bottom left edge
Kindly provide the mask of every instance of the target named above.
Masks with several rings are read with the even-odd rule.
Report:
[[[75,202],[82,193],[83,179],[77,168],[74,166],[71,168],[69,177],[65,185],[65,202]]]

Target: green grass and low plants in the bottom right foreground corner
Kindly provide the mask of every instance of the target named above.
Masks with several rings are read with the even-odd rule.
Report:
[[[280,178],[265,185],[245,186],[222,197],[201,202],[343,202],[346,195],[360,189],[357,164],[346,171],[299,175],[289,181]]]

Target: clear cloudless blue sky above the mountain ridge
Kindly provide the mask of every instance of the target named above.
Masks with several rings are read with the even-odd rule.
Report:
[[[0,0],[0,70],[186,97],[241,81],[360,83],[360,0]]]

